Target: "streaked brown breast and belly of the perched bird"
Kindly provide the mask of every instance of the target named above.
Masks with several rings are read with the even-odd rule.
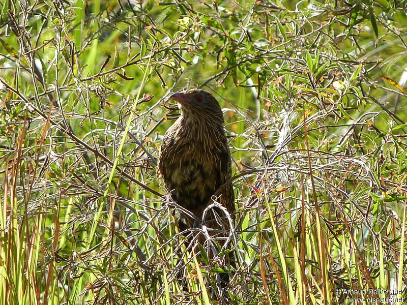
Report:
[[[172,198],[201,217],[225,182],[230,157],[221,125],[195,123],[179,119],[167,130],[158,168]]]

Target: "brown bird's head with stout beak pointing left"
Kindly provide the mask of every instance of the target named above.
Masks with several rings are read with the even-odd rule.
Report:
[[[223,124],[222,109],[209,92],[191,89],[186,92],[173,93],[169,99],[179,103],[181,115],[186,119],[211,119]]]

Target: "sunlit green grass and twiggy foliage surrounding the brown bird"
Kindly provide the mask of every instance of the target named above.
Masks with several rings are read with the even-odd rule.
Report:
[[[3,0],[1,303],[217,303],[222,268],[230,303],[404,303],[405,6]],[[237,268],[197,268],[157,179],[192,87],[224,108]]]

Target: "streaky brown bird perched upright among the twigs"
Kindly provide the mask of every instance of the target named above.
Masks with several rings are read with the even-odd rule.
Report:
[[[158,171],[175,202],[204,221],[208,228],[228,229],[227,221],[219,221],[214,215],[221,219],[224,214],[220,209],[215,208],[202,220],[203,211],[221,186],[217,202],[232,217],[235,212],[232,184],[226,184],[231,177],[231,159],[219,103],[210,93],[199,89],[175,93],[169,99],[179,103],[181,115],[164,135]],[[180,231],[198,225],[193,218],[181,214]]]

